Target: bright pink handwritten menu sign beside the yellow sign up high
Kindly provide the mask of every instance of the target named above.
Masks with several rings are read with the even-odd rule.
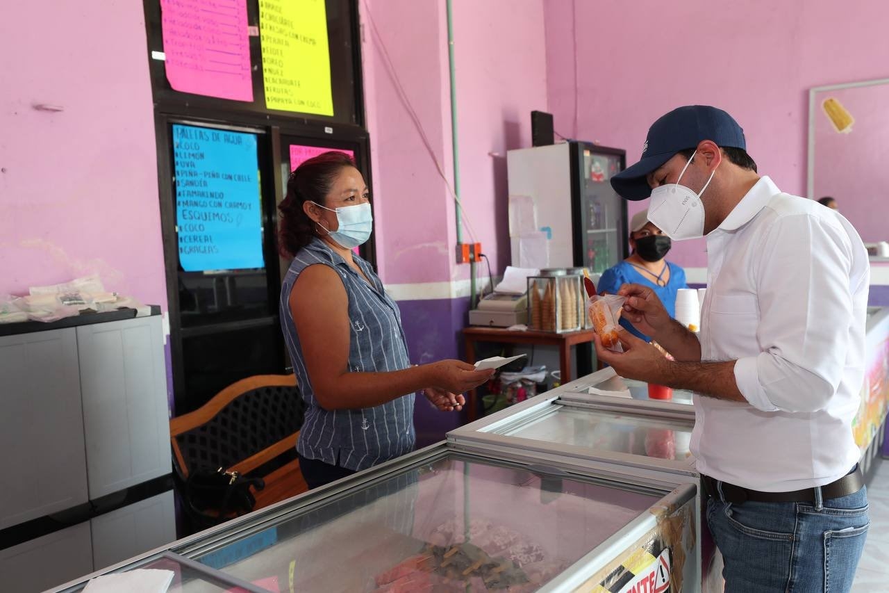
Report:
[[[172,88],[253,100],[246,0],[161,0],[161,28]]]

